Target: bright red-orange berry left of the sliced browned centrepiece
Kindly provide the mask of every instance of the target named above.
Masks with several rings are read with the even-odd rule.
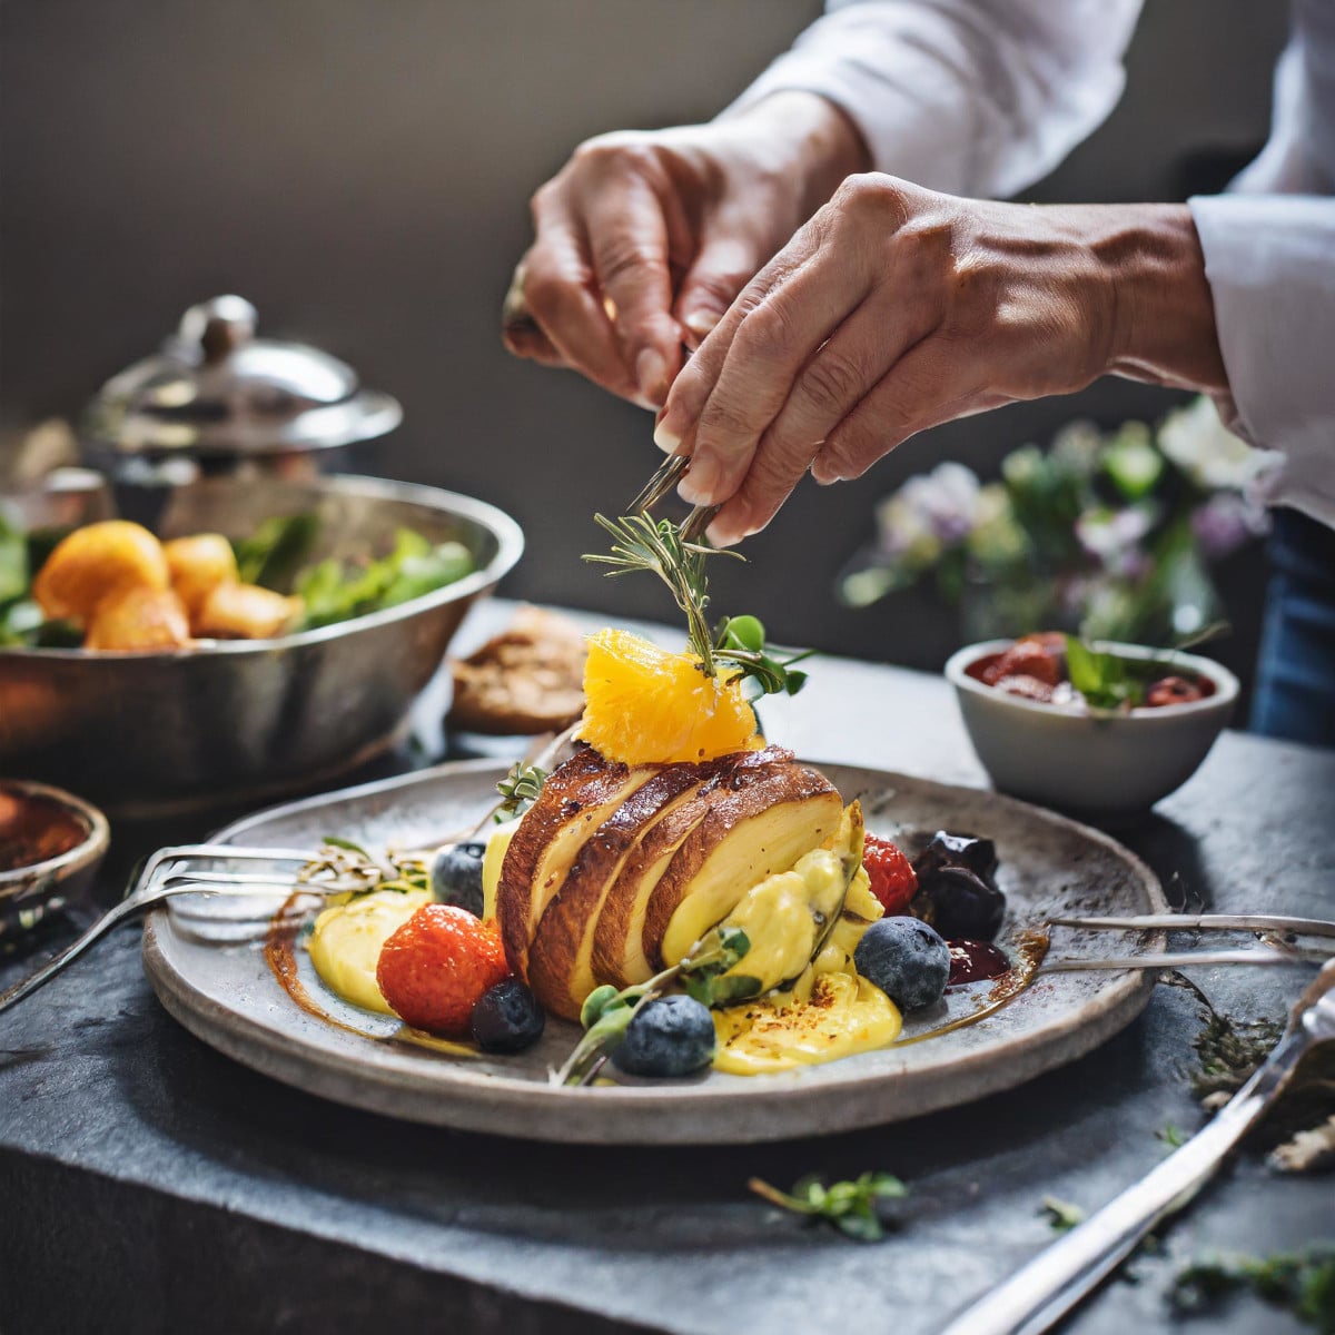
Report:
[[[380,949],[375,981],[415,1029],[466,1037],[473,1007],[510,976],[501,930],[453,904],[423,904]]]

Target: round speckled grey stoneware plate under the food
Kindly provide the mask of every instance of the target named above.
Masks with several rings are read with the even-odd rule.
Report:
[[[1164,910],[1153,873],[1097,830],[991,792],[841,765],[821,769],[845,800],[861,797],[873,832],[952,829],[996,840],[1009,901],[1003,945],[1020,928],[1061,914]],[[415,846],[475,820],[501,773],[490,761],[443,765],[274,808],[228,826],[220,840],[315,848],[322,834],[336,833],[363,844]],[[144,932],[144,968],[163,1005],[206,1043],[339,1103],[534,1140],[726,1144],[917,1116],[1083,1056],[1140,1013],[1153,977],[1043,976],[979,1024],[793,1073],[709,1072],[692,1081],[562,1089],[547,1084],[547,1069],[570,1051],[574,1025],[550,1023],[542,1043],[517,1057],[443,1056],[394,1041],[394,1021],[339,1003],[315,977],[304,951],[298,952],[307,988],[362,1031],[350,1033],[295,1005],[258,944],[220,944],[226,922],[203,902],[178,900],[171,910],[155,910]],[[1107,943],[1107,936],[1097,943],[1064,930],[1059,947],[1063,953],[1096,953]],[[1140,940],[1129,949],[1160,944]],[[934,1012],[914,1016],[905,1033],[972,1011],[979,988],[987,984],[951,993]]]

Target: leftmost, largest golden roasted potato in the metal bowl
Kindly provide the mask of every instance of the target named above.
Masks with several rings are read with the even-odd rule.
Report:
[[[167,589],[162,543],[144,527],[107,519],[76,529],[47,557],[32,597],[53,619],[88,625],[97,605],[127,589]]]

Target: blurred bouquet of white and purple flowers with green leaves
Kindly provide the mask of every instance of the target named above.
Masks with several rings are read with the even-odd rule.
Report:
[[[861,607],[934,574],[967,639],[1180,643],[1222,613],[1211,563],[1266,531],[1250,494],[1266,458],[1206,398],[1155,429],[1072,422],[1048,450],[1012,450],[1000,481],[960,463],[909,478],[877,506],[876,541],[838,591]]]

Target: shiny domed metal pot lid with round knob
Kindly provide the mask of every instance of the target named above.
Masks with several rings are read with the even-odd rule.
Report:
[[[116,454],[247,455],[323,450],[392,431],[403,417],[344,362],[304,343],[255,338],[242,296],[186,311],[162,352],[109,379],[85,434]]]

